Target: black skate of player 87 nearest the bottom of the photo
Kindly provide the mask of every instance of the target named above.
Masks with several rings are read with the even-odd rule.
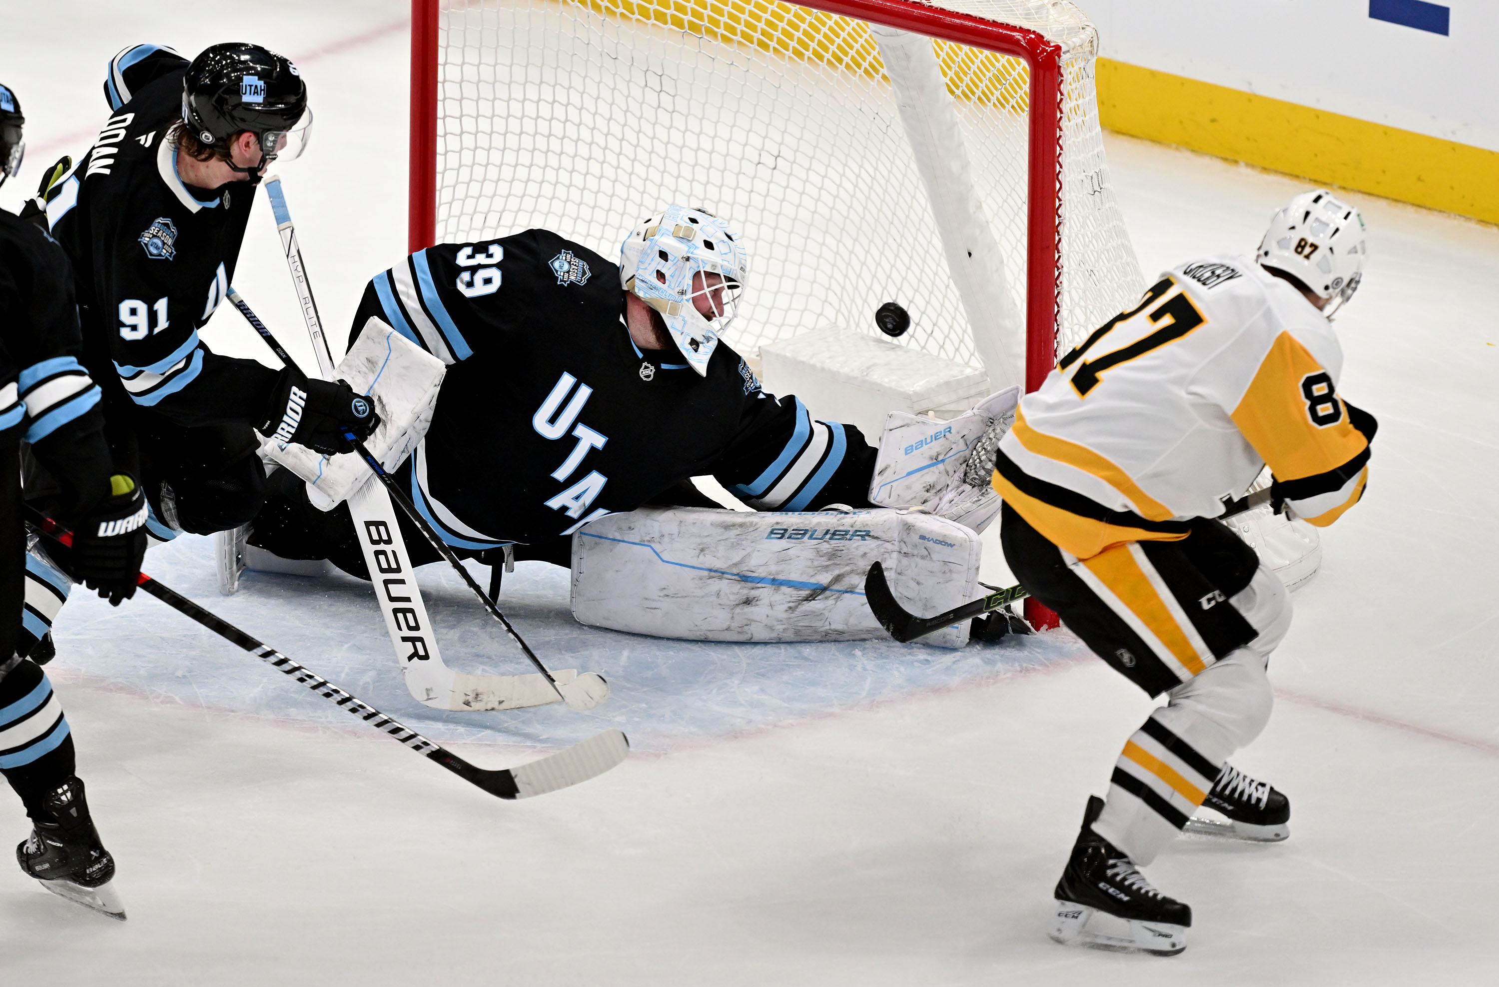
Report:
[[[1067,946],[1175,956],[1187,948],[1192,906],[1151,886],[1121,849],[1093,831],[1103,800],[1088,796],[1082,831],[1057,882],[1051,938]]]

